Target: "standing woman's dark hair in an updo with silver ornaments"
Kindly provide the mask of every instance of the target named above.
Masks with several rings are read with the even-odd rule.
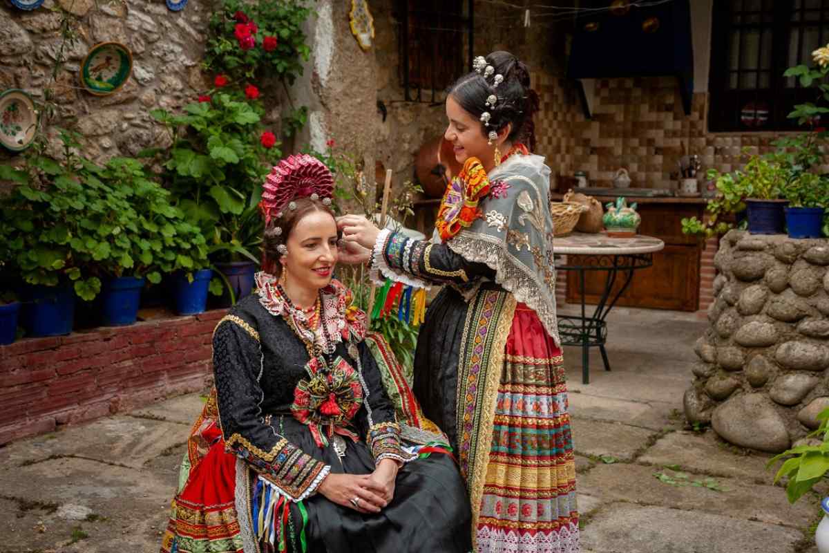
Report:
[[[539,99],[536,91],[530,88],[530,71],[507,51],[494,51],[486,56],[486,60],[495,70],[492,75],[484,78],[483,73],[476,71],[463,75],[449,89],[449,95],[475,119],[479,119],[483,112],[489,112],[489,126],[481,123],[484,136],[491,130],[500,132],[511,123],[507,140],[525,143],[531,151],[535,150],[536,126],[532,118],[539,109]],[[503,75],[504,80],[492,88],[495,75]],[[487,97],[492,94],[497,96],[494,108],[487,106]]]

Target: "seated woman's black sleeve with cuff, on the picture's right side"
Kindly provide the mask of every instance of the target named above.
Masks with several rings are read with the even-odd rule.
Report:
[[[400,424],[397,424],[395,408],[385,393],[380,369],[371,355],[366,342],[360,342],[357,352],[360,357],[362,384],[368,392],[364,409],[357,414],[355,423],[366,433],[366,444],[371,448],[375,462],[384,458],[405,463],[414,456],[405,453],[400,444]]]

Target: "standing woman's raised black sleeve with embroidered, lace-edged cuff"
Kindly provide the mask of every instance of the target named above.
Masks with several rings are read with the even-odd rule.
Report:
[[[398,232],[383,233],[375,250],[374,262],[383,273],[387,268],[393,273],[410,274],[415,279],[437,284],[466,284],[478,277],[495,275],[486,264],[468,261],[445,244],[414,240]]]

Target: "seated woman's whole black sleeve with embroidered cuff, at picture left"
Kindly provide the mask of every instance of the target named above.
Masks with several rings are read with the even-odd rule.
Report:
[[[213,369],[225,447],[293,501],[315,492],[330,467],[265,424],[259,332],[250,323],[235,315],[221,319],[213,334]]]

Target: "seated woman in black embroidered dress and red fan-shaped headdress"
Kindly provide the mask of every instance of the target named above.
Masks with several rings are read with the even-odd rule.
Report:
[[[332,280],[332,187],[306,155],[264,185],[264,272],[216,326],[216,389],[193,426],[163,553],[470,550],[463,480],[435,445],[445,436]]]

